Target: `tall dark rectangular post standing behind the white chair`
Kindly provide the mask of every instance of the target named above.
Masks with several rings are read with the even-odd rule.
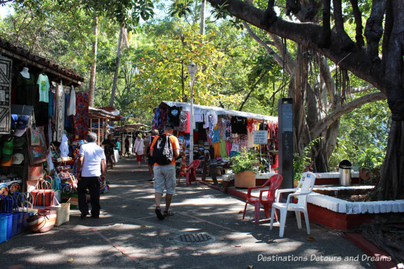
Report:
[[[278,100],[278,151],[279,174],[282,175],[282,189],[293,188],[293,99]],[[286,201],[288,193],[283,193]]]

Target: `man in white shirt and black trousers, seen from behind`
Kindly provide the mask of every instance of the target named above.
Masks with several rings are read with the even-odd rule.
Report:
[[[106,156],[102,147],[95,141],[95,133],[87,134],[87,144],[80,147],[79,158],[77,160],[77,194],[80,218],[85,218],[88,212],[86,200],[86,189],[90,191],[91,218],[99,218],[99,182],[105,182]]]

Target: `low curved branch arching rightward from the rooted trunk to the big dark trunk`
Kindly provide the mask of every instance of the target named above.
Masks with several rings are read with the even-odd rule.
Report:
[[[319,122],[314,128],[312,128],[312,131],[310,132],[311,137],[319,137],[320,134],[331,124],[333,124],[339,117],[342,115],[349,113],[356,109],[357,107],[360,107],[361,105],[369,102],[374,102],[374,101],[380,101],[380,100],[385,100],[387,97],[384,95],[382,92],[376,92],[376,93],[371,93],[362,97],[359,97],[349,103],[347,103],[345,106],[340,107],[339,109],[334,110],[330,114],[328,114],[327,117],[325,117],[321,122]]]

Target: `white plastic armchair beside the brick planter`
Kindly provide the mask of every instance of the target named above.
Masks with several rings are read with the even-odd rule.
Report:
[[[310,194],[314,187],[314,182],[316,181],[316,175],[310,172],[305,172],[301,175],[299,184],[294,189],[280,189],[275,192],[275,202],[272,204],[271,210],[271,227],[274,223],[274,214],[275,210],[279,209],[280,211],[280,228],[279,228],[279,237],[283,237],[283,232],[285,230],[285,222],[286,222],[286,213],[287,211],[294,211],[296,215],[297,228],[301,229],[301,219],[300,212],[305,214],[307,233],[310,235],[310,226],[309,226],[309,216],[307,214],[307,195]],[[293,192],[287,196],[286,203],[280,203],[279,197],[283,192]],[[297,203],[290,203],[290,197],[297,196]]]

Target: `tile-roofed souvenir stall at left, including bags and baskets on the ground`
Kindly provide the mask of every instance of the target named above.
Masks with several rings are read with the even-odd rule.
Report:
[[[88,130],[88,94],[79,90],[83,81],[73,71],[0,38],[0,190],[5,195],[0,200],[1,213],[13,216],[12,236],[23,231],[17,216],[28,210],[28,199],[30,214],[39,210],[33,206],[45,210],[57,204],[54,197],[60,197],[63,173],[73,168]],[[25,221],[27,217],[24,211]],[[33,226],[37,217],[42,218],[32,217]]]

